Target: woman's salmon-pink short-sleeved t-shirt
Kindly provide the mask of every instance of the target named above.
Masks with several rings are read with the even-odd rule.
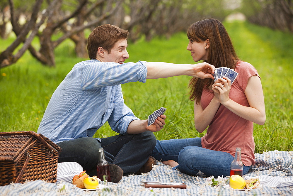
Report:
[[[248,62],[239,61],[235,67],[238,73],[231,85],[229,98],[243,106],[249,107],[244,94],[249,77],[258,75],[256,69]],[[205,109],[214,97],[214,92],[203,89],[201,106]],[[218,111],[207,129],[207,134],[202,137],[203,148],[214,151],[224,151],[235,156],[236,148],[241,148],[241,160],[244,165],[255,164],[254,160],[254,138],[253,122],[245,120],[234,114],[225,106],[220,104]]]

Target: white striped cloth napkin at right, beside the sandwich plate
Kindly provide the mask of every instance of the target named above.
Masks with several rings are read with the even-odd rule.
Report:
[[[280,176],[259,175],[255,177],[245,176],[244,179],[258,178],[263,186],[267,187],[286,187],[293,185],[293,178],[282,178]]]

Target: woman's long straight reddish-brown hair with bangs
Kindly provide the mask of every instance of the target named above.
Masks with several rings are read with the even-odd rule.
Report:
[[[235,68],[239,58],[236,55],[232,41],[225,27],[217,19],[208,18],[193,23],[187,30],[187,37],[196,42],[209,39],[209,53],[207,60],[204,60],[204,62],[214,65],[215,67]],[[214,83],[214,80],[211,78],[190,79],[189,99],[199,104],[202,90],[208,88],[212,83]]]

